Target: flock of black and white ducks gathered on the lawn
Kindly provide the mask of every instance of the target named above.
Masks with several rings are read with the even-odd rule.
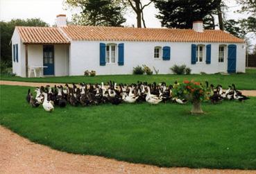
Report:
[[[175,82],[177,84],[177,82]],[[206,82],[208,87],[208,82]],[[35,89],[36,96],[33,97],[31,89],[28,89],[26,101],[32,107],[38,107],[42,105],[44,110],[51,112],[54,107],[66,107],[67,103],[72,106],[89,106],[99,105],[101,103],[112,103],[113,105],[119,105],[120,103],[139,103],[146,101],[153,105],[160,102],[167,103],[171,101],[173,103],[185,104],[187,100],[184,98],[177,98],[172,96],[171,89],[173,85],[168,85],[165,82],[156,84],[153,82],[149,84],[147,82],[137,82],[130,85],[119,84],[116,82],[108,82],[108,85],[104,85],[101,82],[99,84],[86,84],[85,82],[79,85],[69,86],[66,84],[55,87],[37,87]],[[210,85],[211,96],[210,101],[212,103],[219,103],[222,100],[237,100],[244,101],[248,97],[244,96],[239,92],[235,85],[229,86],[229,88],[223,92],[222,86]]]

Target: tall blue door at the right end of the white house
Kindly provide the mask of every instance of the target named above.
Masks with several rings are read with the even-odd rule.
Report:
[[[235,73],[237,67],[237,46],[230,44],[228,46],[228,73]]]

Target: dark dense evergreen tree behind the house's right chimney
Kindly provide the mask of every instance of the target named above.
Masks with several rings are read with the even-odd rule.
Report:
[[[169,0],[155,1],[160,10],[156,17],[168,28],[192,28],[193,21],[203,20],[205,28],[214,29],[212,14],[221,6],[221,0]]]

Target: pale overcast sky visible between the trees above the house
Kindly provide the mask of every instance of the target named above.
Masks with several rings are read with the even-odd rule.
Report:
[[[225,12],[225,19],[242,19],[246,17],[245,14],[234,12],[241,8],[236,3],[236,0],[224,0],[229,7]],[[142,0],[142,3],[147,3],[148,0]],[[40,18],[46,23],[53,25],[56,22],[56,15],[65,14],[67,19],[71,20],[72,12],[65,10],[63,0],[0,0],[0,20],[10,21],[11,19],[28,19]],[[161,28],[159,19],[155,17],[157,9],[151,3],[150,6],[144,8],[144,18],[147,28]],[[125,26],[132,26],[137,24],[136,16],[133,10],[126,12]],[[216,21],[216,23],[218,23]],[[218,29],[218,28],[216,28]],[[253,44],[256,44],[256,39],[251,39]]]

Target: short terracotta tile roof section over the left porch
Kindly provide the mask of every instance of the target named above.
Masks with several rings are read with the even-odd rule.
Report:
[[[17,26],[24,44],[69,44],[69,40],[56,27]]]

